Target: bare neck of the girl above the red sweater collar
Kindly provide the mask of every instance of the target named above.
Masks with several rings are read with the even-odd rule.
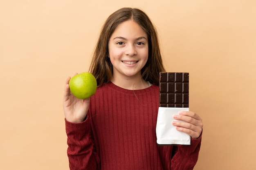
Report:
[[[112,83],[115,85],[122,87],[128,90],[139,90],[139,89],[146,89],[149,87],[148,82],[146,82],[141,75],[133,76],[133,77],[118,77],[113,75],[112,76]]]

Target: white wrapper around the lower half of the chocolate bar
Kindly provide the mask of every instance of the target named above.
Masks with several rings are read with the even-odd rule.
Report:
[[[190,136],[184,132],[177,131],[173,121],[173,115],[179,114],[180,111],[189,111],[188,107],[159,107],[157,115],[157,144],[160,145],[190,145]]]

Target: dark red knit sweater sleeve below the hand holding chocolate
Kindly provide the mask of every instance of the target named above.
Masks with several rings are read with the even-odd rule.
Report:
[[[171,170],[193,170],[198,161],[202,133],[198,139],[191,138],[191,145],[173,146]]]

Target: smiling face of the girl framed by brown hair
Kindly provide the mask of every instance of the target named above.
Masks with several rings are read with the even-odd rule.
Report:
[[[148,37],[132,20],[121,23],[110,37],[110,61],[115,77],[140,77],[148,60]]]

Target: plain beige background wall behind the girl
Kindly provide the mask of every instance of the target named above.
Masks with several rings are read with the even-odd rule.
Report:
[[[254,170],[255,0],[0,0],[0,169],[69,169],[63,84],[88,71],[121,7],[151,17],[168,72],[190,73],[204,122],[195,170]]]

